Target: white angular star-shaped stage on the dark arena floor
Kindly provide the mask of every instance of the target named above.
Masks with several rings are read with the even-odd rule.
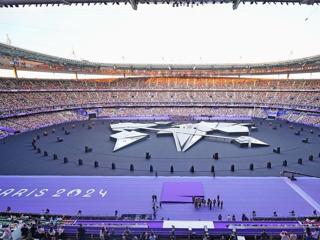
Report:
[[[140,124],[140,123],[117,123],[110,124],[113,132],[117,132],[110,136],[110,140],[116,141],[113,151],[119,150],[136,142],[145,140],[150,137],[149,134],[137,132],[140,130],[154,130],[157,137],[173,136],[177,151],[186,151],[203,137],[213,137],[220,139],[232,140],[238,147],[263,147],[269,144],[249,137],[249,127],[255,128],[254,124],[237,124],[237,123],[208,123],[200,122],[196,124],[178,124],[172,125],[173,122],[156,122],[155,124]],[[171,128],[157,129],[158,126],[169,126]],[[136,131],[137,130],[137,131]],[[214,132],[219,132],[224,135],[240,137],[225,137],[211,135]]]

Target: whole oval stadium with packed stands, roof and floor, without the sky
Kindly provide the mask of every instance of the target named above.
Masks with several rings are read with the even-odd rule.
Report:
[[[0,239],[319,239],[320,55],[152,63],[155,46],[140,64],[21,43],[0,43]]]

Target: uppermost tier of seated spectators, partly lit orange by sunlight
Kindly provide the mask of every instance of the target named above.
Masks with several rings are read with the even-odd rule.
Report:
[[[311,89],[320,90],[312,80],[269,80],[255,78],[134,77],[88,80],[0,79],[2,89]]]

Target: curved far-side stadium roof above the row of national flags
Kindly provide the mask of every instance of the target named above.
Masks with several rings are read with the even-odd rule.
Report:
[[[85,60],[72,60],[60,58],[40,52],[34,52],[12,45],[0,43],[0,56],[22,61],[30,61],[56,66],[72,66],[75,68],[129,70],[129,71],[218,71],[218,70],[252,70],[295,68],[303,66],[320,66],[320,55],[294,60],[264,62],[264,63],[212,63],[212,64],[124,64],[124,63],[99,63]],[[315,69],[320,71],[320,68]]]

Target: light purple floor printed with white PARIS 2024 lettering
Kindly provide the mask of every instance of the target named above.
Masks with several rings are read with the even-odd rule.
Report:
[[[195,210],[191,203],[163,203],[157,219],[170,220],[227,220],[228,214],[241,220],[242,213],[249,218],[252,210],[257,216],[310,215],[315,209],[298,192],[278,177],[62,177],[62,176],[0,176],[0,210],[10,206],[13,211],[84,215],[151,214],[152,195],[161,196],[164,182],[201,184],[204,197],[223,201],[223,208],[202,207]],[[320,179],[297,178],[300,186],[319,204],[315,191]],[[179,185],[176,185],[179,186]],[[312,187],[310,187],[312,186]],[[199,188],[197,188],[199,189]],[[188,188],[191,191],[191,188]],[[185,191],[180,191],[185,194]],[[196,195],[196,194],[195,194]],[[285,197],[284,197],[285,196]],[[290,197],[289,197],[290,196]],[[159,199],[158,199],[159,202]],[[156,203],[158,206],[159,203]],[[319,212],[319,211],[317,211]]]

